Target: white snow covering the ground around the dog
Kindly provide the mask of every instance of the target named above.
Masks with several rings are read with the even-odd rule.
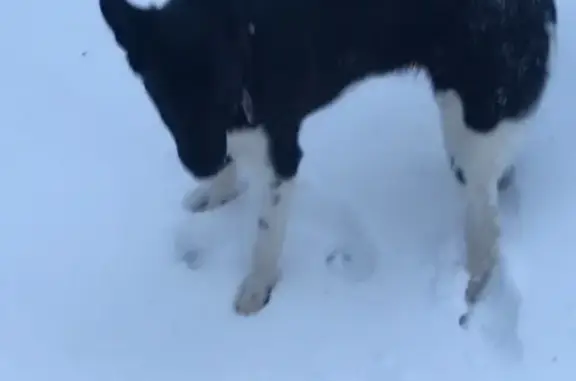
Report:
[[[468,330],[463,198],[424,78],[368,80],[306,121],[283,279],[244,318],[257,192],[183,211],[194,184],[96,2],[5,4],[0,380],[573,378],[576,4],[559,3],[555,76],[502,201],[518,321],[486,301]],[[327,266],[335,250],[352,263]]]

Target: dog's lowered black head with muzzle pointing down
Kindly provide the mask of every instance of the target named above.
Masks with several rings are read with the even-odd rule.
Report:
[[[192,172],[225,155],[222,135],[242,99],[244,36],[226,1],[139,8],[128,0],[100,0],[104,20]]]

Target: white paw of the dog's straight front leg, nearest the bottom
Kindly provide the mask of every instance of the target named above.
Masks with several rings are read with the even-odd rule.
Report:
[[[270,301],[270,294],[277,281],[277,276],[248,275],[238,288],[234,301],[236,313],[247,316],[259,312]]]

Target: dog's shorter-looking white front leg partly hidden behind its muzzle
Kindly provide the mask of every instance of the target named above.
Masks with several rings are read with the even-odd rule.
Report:
[[[206,212],[234,200],[242,190],[238,182],[236,162],[228,157],[215,176],[203,179],[196,189],[184,196],[183,204],[193,212]]]

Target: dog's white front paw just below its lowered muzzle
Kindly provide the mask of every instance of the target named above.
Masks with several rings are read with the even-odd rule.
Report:
[[[248,184],[239,181],[231,189],[217,189],[214,184],[203,185],[184,196],[184,208],[194,213],[207,212],[234,201],[248,188]]]

